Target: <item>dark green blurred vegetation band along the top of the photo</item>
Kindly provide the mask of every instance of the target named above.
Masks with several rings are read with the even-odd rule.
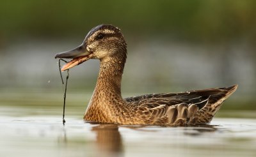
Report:
[[[129,34],[207,43],[245,38],[254,45],[255,7],[254,0],[2,1],[0,39],[77,36],[105,23]]]

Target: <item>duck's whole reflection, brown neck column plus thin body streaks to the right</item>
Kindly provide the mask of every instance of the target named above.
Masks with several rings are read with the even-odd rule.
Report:
[[[115,124],[99,124],[98,126],[94,126],[92,131],[95,131],[97,135],[96,143],[100,156],[124,156],[122,136],[120,131],[118,131],[119,127],[129,128],[134,131],[152,132],[155,135],[157,133],[157,130],[147,130],[148,126],[118,126]],[[172,126],[159,126],[159,129],[164,129],[165,127],[173,128]],[[205,132],[214,132],[218,130],[216,126],[208,124],[179,128],[180,131],[184,133],[184,136],[198,136]]]

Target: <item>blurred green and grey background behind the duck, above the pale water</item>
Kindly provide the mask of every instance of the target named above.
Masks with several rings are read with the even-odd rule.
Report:
[[[256,110],[255,7],[254,0],[1,1],[0,105],[61,107],[54,54],[113,24],[128,44],[124,97],[239,84],[223,110]],[[74,110],[84,111],[98,71],[95,60],[70,70]]]

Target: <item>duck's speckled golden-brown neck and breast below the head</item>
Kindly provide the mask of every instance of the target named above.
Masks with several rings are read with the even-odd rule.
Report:
[[[100,60],[97,84],[84,114],[86,121],[108,123],[104,120],[108,119],[106,110],[123,101],[121,81],[125,60],[126,56]]]

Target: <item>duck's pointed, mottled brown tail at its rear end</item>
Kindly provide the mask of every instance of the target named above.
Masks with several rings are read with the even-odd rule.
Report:
[[[218,112],[223,101],[225,101],[237,89],[237,84],[230,87],[216,88],[218,92],[209,97],[207,104],[195,114],[193,123],[210,123],[212,117]]]

